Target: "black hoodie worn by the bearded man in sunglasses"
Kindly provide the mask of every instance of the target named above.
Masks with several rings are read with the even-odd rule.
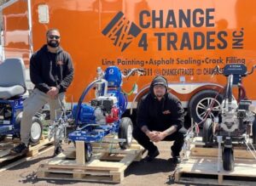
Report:
[[[47,93],[50,87],[57,87],[59,93],[66,92],[73,81],[73,62],[61,47],[56,54],[44,45],[30,59],[30,78],[35,88]]]

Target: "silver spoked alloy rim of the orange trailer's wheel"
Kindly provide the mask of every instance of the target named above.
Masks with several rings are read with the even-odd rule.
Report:
[[[198,104],[196,104],[196,108],[195,108],[196,115],[201,120],[203,120],[205,116],[207,116],[207,112],[210,110],[212,101],[214,101],[214,104],[212,105],[212,111],[210,112],[208,117],[210,116],[213,120],[215,116],[218,116],[218,111],[220,110],[220,103],[218,102],[218,100],[213,98],[205,98],[205,99],[201,99],[201,101],[198,102]]]

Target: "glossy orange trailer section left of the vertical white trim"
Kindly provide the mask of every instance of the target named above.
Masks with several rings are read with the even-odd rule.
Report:
[[[29,58],[32,54],[28,2],[30,1],[9,1],[1,7],[4,58],[22,58],[26,67],[29,65]]]

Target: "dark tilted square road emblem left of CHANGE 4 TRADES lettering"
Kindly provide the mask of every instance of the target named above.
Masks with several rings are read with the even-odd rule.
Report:
[[[123,52],[132,40],[139,35],[142,30],[130,20],[126,20],[122,12],[113,17],[113,20],[104,28],[102,34],[113,41],[113,45],[121,48]]]

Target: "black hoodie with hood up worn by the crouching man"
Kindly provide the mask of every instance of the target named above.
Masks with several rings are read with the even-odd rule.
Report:
[[[157,76],[151,82],[150,91],[143,96],[137,112],[138,127],[147,126],[149,130],[164,131],[172,125],[177,125],[177,130],[183,127],[183,107],[179,99],[172,93],[167,93],[160,101],[154,96],[154,84],[168,86],[166,78]]]

